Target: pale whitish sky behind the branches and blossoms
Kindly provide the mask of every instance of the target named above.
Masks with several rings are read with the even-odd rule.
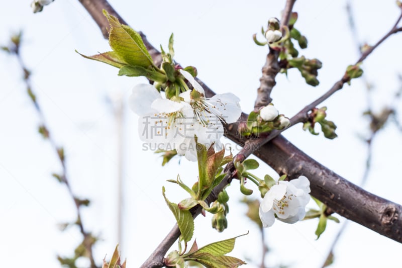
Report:
[[[178,62],[196,66],[198,77],[215,92],[232,92],[241,99],[244,112],[252,110],[267,53],[266,47],[254,44],[252,35],[260,33],[270,17],[280,17],[284,1],[110,3],[130,26],[143,31],[155,47],[167,47],[173,32]],[[110,50],[78,1],[56,0],[39,14],[32,14],[30,2],[25,0],[2,6],[5,12],[0,16],[0,44],[7,43],[12,33],[24,31],[22,56],[33,71],[33,90],[48,126],[57,143],[64,146],[71,186],[78,196],[92,201],[83,210],[83,222],[87,230],[103,239],[94,251],[101,263],[119,242],[117,134],[107,99],[127,103],[132,87],[146,80],[119,77],[116,68],[86,60],[74,52],[77,49],[91,55]],[[278,74],[272,97],[279,113],[294,115],[325,93],[342,77],[346,66],[358,58],[345,6],[345,1],[296,2],[293,10],[299,16],[295,27],[309,40],[309,47],[299,50],[299,54],[320,59],[323,68],[319,70],[317,87],[306,85],[295,70],[290,70],[287,78]],[[354,1],[352,7],[358,38],[369,44],[381,38],[399,15],[393,0]],[[262,40],[261,35],[259,39]],[[402,34],[390,37],[363,64],[368,80],[375,86],[372,100],[377,111],[392,102],[391,96],[400,87],[400,43]],[[361,80],[353,80],[351,86],[345,85],[322,105],[328,107],[328,119],[338,126],[337,139],[327,140],[323,134],[313,136],[304,132],[301,125],[284,133],[311,157],[354,183],[360,181],[366,158],[365,144],[359,138],[368,133],[367,120],[361,116],[366,109],[364,88]],[[5,267],[59,267],[56,255],[72,255],[81,238],[76,228],[61,232],[57,227],[73,221],[75,211],[65,187],[51,176],[60,171],[60,165],[48,142],[37,133],[39,118],[25,91],[15,58],[1,53],[0,255]],[[400,113],[400,103],[398,108]],[[138,117],[129,109],[125,115],[121,246],[128,259],[127,267],[138,267],[174,224],[161,195],[162,186],[166,187],[170,201],[177,203],[186,198],[186,193],[166,180],[179,173],[184,182],[192,185],[197,169],[195,163],[184,158],[180,163],[175,158],[162,168],[158,155],[142,151]],[[401,204],[402,185],[397,177],[402,151],[400,131],[393,124],[387,125],[374,141],[373,150],[372,171],[365,189]],[[266,165],[256,171],[260,176],[266,173],[277,178]],[[228,229],[218,233],[211,228],[211,215],[197,217],[194,238],[201,246],[250,231],[238,239],[230,255],[250,257],[259,263],[258,229],[244,217],[246,207],[239,205],[242,195],[237,182],[232,183],[228,192]],[[259,198],[258,191],[252,197]],[[314,203],[308,207],[314,208]],[[276,222],[266,230],[271,249],[267,264],[320,267],[340,226],[329,222],[327,231],[315,240],[317,220],[293,225]],[[400,250],[399,243],[351,223],[335,249],[332,267],[394,267],[400,261]],[[247,262],[248,267],[256,267],[252,261]]]

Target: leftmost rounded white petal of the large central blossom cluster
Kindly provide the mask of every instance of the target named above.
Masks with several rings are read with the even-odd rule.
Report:
[[[151,104],[162,99],[160,93],[150,84],[137,84],[129,98],[130,109],[139,116],[154,114],[157,111],[151,108]]]

